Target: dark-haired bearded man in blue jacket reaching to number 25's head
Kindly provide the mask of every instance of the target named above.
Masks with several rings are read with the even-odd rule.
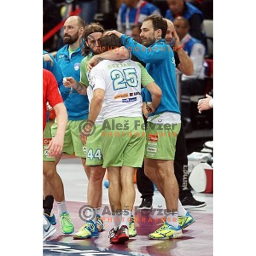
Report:
[[[144,47],[131,37],[117,31],[109,34],[114,33],[121,38],[122,44],[130,49],[132,54],[147,63],[148,73],[163,91],[157,110],[148,115],[145,174],[156,184],[165,198],[167,218],[162,227],[149,234],[149,238],[180,238],[183,236],[182,229],[195,220],[178,200],[179,189],[174,173],[175,146],[181,124],[177,101],[175,58],[172,48],[164,41],[167,31],[166,20],[158,15],[150,15],[143,21],[141,30],[140,36]],[[179,46],[176,50],[181,48],[182,46]],[[159,124],[164,125],[162,128],[164,131],[158,130]],[[161,132],[170,136],[160,136]],[[170,214],[172,214],[171,217]],[[183,217],[182,223],[177,221],[179,216]]]

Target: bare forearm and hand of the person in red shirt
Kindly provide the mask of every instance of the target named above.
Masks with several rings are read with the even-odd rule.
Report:
[[[53,107],[55,111],[58,128],[55,137],[49,143],[49,155],[54,157],[61,153],[64,143],[64,135],[67,127],[67,110],[64,103],[58,103]]]

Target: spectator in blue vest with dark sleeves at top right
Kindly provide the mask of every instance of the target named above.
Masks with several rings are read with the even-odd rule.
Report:
[[[169,10],[166,11],[166,18],[174,21],[178,16],[184,17],[189,22],[189,34],[205,44],[205,38],[201,31],[204,20],[202,12],[184,0],[167,0],[167,3]]]

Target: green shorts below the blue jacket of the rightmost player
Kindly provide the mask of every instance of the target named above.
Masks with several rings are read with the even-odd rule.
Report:
[[[159,126],[148,122],[145,157],[159,160],[174,160],[179,124],[170,124],[160,131]]]

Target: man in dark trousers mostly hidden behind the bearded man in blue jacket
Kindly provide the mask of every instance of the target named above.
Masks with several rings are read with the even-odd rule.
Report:
[[[165,20],[167,22],[165,41],[170,46],[177,48],[180,46],[180,40],[177,32],[175,31],[174,25],[171,20]],[[182,48],[178,51],[174,51],[174,58],[176,68],[180,70],[180,72],[186,74],[187,76],[191,76],[194,73],[193,62]],[[144,93],[142,93],[142,95],[144,95]],[[151,99],[148,99],[148,101],[151,101]],[[145,102],[143,102],[143,104],[145,104]],[[144,115],[148,115],[145,108]],[[184,206],[184,208],[191,209],[204,207],[206,203],[195,200],[191,193],[191,189],[188,186],[188,159],[186,141],[182,124],[180,132],[177,136],[174,171],[177,183],[179,185],[180,202]],[[141,197],[143,198],[142,203],[140,204],[140,207],[138,209],[151,209],[152,197],[154,195],[154,187],[151,180],[149,180],[148,177],[145,176],[144,169],[140,169],[139,171],[137,170],[137,187],[142,194]]]

